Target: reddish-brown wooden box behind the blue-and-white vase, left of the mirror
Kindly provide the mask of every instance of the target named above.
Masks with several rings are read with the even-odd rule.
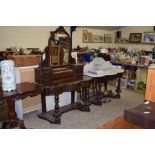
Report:
[[[10,55],[8,60],[13,60],[16,67],[35,66],[41,62],[41,55]]]

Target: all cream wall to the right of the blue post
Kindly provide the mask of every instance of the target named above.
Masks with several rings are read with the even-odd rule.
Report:
[[[88,30],[92,32],[93,35],[104,35],[104,34],[111,34],[113,36],[113,43],[83,43],[82,32],[83,30]],[[126,26],[121,29],[121,38],[129,38],[130,33],[143,33],[143,32],[153,32],[153,26]],[[105,29],[89,29],[87,28],[80,28],[78,27],[75,32],[73,32],[73,48],[79,45],[80,47],[89,48],[99,48],[99,47],[124,47],[124,48],[132,48],[137,51],[139,50],[147,50],[151,51],[154,45],[148,44],[121,44],[121,43],[114,43],[114,37],[116,34],[116,30],[105,30]]]

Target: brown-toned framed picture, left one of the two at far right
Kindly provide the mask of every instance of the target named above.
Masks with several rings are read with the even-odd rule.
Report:
[[[130,33],[129,42],[130,43],[141,43],[142,33]]]

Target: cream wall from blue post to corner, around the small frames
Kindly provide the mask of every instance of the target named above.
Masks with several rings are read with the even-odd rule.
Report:
[[[114,33],[112,31],[103,30],[103,29],[89,29],[89,28],[81,28],[77,27],[76,31],[73,32],[73,48],[76,48],[78,45],[80,47],[86,47],[89,48],[99,48],[99,47],[112,47],[112,43],[83,43],[83,30],[88,30],[88,32],[91,32],[93,35],[104,35],[104,34],[111,34],[112,36]]]

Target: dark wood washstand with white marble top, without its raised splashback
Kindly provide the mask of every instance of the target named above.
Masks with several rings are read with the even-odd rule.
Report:
[[[123,69],[116,66],[113,66],[109,69],[105,69],[100,74],[94,74],[88,71],[84,72],[85,76],[92,78],[92,96],[90,97],[90,102],[92,102],[95,105],[102,105],[102,99],[104,97],[120,98],[120,84],[123,72]],[[116,93],[113,93],[111,90],[109,91],[107,88],[108,81],[112,79],[117,79],[117,86],[115,90]]]

